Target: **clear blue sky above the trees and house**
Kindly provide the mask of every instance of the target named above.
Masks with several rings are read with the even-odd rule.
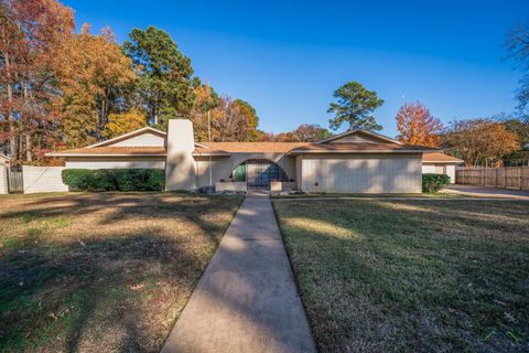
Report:
[[[168,31],[197,76],[248,100],[272,132],[327,127],[332,93],[347,81],[386,100],[376,116],[389,136],[406,101],[444,122],[510,113],[520,73],[503,43],[529,18],[527,0],[63,2],[79,26],[110,25],[119,42],[132,28]]]

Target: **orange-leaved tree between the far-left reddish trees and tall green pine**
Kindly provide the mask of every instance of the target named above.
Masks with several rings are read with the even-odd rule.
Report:
[[[116,43],[109,28],[90,33],[84,24],[61,49],[55,75],[62,92],[63,131],[68,147],[101,139],[110,114],[122,113],[120,90],[137,76],[132,61]]]

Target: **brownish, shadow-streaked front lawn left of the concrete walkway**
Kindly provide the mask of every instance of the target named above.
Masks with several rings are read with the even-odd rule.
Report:
[[[158,352],[242,197],[0,199],[0,351]]]

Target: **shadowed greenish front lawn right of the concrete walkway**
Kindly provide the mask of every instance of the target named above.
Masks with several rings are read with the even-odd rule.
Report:
[[[529,350],[529,202],[273,205],[322,352]]]

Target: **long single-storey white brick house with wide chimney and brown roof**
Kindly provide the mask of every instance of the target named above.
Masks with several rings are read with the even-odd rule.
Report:
[[[193,136],[191,120],[171,119],[168,133],[147,127],[48,156],[64,158],[66,168],[165,169],[166,190],[420,193],[423,153],[440,152],[366,130],[310,143],[207,143]]]

